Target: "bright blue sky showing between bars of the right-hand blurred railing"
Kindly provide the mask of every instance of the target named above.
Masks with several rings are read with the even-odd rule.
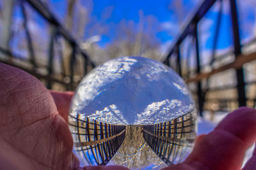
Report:
[[[240,27],[240,36],[242,41],[246,39],[250,39],[253,36],[253,24],[255,23],[255,8],[256,6],[250,5],[250,3],[242,3],[241,1],[237,1],[237,10],[238,10],[238,17],[239,17],[239,27]],[[201,21],[201,27],[205,27],[205,19],[206,20],[214,20],[211,23],[211,27],[209,27],[205,32],[212,33],[211,36],[207,39],[205,43],[205,48],[212,48],[212,42],[214,39],[214,32],[216,27],[216,20],[218,17],[218,4],[214,4],[212,9],[208,11],[205,15],[203,20]],[[255,27],[255,25],[254,25]],[[220,24],[220,33],[219,33],[219,40],[218,40],[218,49],[228,48],[232,45],[232,22],[230,17],[230,8],[227,1],[223,4],[223,13],[221,17],[221,24]]]

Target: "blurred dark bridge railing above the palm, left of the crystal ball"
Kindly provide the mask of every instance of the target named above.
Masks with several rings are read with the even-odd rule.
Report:
[[[0,45],[0,62],[19,67],[33,74],[44,82],[49,89],[74,90],[81,78],[95,66],[88,54],[79,45],[79,41],[70,34],[70,31],[65,29],[47,4],[42,1],[10,0],[4,1],[4,3],[6,3],[4,4],[4,13],[8,13],[8,15],[4,15],[3,30],[5,32],[2,33],[9,34],[6,35],[9,37],[6,38],[6,42]],[[12,31],[10,30],[14,23],[13,9],[15,6],[19,9],[19,15],[22,17],[22,31],[25,34],[25,41],[22,44],[26,46],[26,56],[20,55],[20,53],[24,53],[24,50],[15,53],[11,50],[12,46],[10,46],[10,40],[12,39],[10,35]],[[31,26],[29,26],[29,15],[31,13],[38,16],[41,22],[47,24],[47,29],[43,32],[37,32],[38,38],[42,34],[49,36],[45,38],[49,39],[49,44],[47,45],[47,52],[44,54],[36,52],[40,46],[41,48],[45,46],[45,43],[42,44],[41,39],[31,33]]]

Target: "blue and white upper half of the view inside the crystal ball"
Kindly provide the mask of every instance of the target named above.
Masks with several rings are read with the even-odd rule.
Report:
[[[155,124],[192,109],[186,85],[172,69],[151,59],[122,57],[81,81],[71,112],[113,124]]]

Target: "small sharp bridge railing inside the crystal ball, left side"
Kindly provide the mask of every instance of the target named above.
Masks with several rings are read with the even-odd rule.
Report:
[[[106,165],[115,155],[125,138],[125,126],[113,125],[88,117],[69,117],[74,139],[74,150],[83,155],[86,164]]]

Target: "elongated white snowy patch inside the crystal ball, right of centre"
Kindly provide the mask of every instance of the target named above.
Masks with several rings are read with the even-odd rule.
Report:
[[[134,124],[155,124],[156,122],[166,122],[170,118],[176,118],[193,110],[193,104],[182,106],[182,102],[177,99],[166,99],[161,102],[149,104],[147,108],[138,113]]]

